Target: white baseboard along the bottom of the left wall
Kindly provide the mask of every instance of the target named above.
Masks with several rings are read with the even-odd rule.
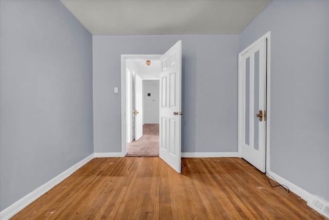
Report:
[[[80,167],[82,167],[84,164],[86,164],[88,161],[94,158],[94,154],[90,154],[83,160],[76,163],[74,166],[70,167],[60,175],[52,178],[48,182],[46,182],[44,185],[39,187],[38,189],[35,189],[34,191],[30,192],[20,200],[16,201],[14,204],[9,206],[8,208],[4,209],[2,212],[0,212],[0,219],[5,220],[9,219],[11,216],[16,214],[17,212],[21,211],[24,207],[32,203],[35,199],[39,198],[41,195],[49,191],[51,188],[59,184],[61,181],[63,181],[65,178],[67,178],[69,175],[74,173],[76,170],[78,170]]]

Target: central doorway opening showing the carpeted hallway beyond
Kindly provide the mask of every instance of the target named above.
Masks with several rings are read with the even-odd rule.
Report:
[[[121,55],[122,156],[159,156],[160,56]]]

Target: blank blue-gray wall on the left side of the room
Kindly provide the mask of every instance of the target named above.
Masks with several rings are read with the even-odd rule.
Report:
[[[92,35],[59,1],[0,1],[0,210],[93,153]]]

